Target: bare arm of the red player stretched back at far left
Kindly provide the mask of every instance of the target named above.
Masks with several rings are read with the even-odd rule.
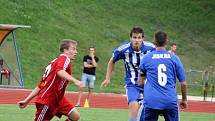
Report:
[[[38,95],[40,91],[40,88],[36,87],[24,100],[19,101],[17,104],[19,105],[20,108],[25,108],[28,103]]]

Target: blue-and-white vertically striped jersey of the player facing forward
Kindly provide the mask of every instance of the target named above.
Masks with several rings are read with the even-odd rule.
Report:
[[[132,43],[123,44],[117,49],[113,50],[113,62],[123,60],[125,65],[125,84],[137,85],[138,79],[138,67],[140,60],[143,56],[151,51],[155,50],[154,45],[150,42],[143,42],[140,51],[134,51]]]

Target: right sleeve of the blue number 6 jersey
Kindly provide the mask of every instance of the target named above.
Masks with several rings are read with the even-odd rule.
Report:
[[[185,70],[183,68],[183,64],[178,56],[176,56],[176,75],[179,82],[186,81]]]

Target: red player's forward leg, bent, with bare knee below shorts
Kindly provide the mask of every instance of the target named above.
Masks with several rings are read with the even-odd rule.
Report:
[[[58,117],[61,117],[61,115],[68,117],[66,121],[78,121],[80,118],[80,113],[65,97],[61,100],[56,114]]]

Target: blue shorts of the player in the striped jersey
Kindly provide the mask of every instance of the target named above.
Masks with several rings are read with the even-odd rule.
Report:
[[[125,86],[125,88],[126,88],[128,103],[133,101],[139,102],[143,99],[143,92],[135,85],[129,85],[129,86],[127,85]]]

